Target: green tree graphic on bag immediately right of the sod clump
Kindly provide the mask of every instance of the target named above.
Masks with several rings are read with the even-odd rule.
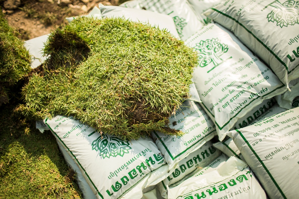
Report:
[[[228,46],[220,43],[218,38],[207,39],[205,41],[201,40],[194,48],[199,55],[199,66],[205,67],[213,63],[214,67],[211,70],[223,63],[223,59],[220,56],[228,51]]]

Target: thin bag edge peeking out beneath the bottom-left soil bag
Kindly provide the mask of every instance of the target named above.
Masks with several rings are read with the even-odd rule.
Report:
[[[71,158],[71,156],[68,155],[68,153],[65,151],[63,146],[60,144],[60,142],[57,141],[57,144],[59,146],[59,149],[60,149],[66,163],[76,173],[77,184],[79,185],[79,188],[83,194],[83,198],[84,199],[96,199],[97,197],[94,195],[94,192],[91,190],[89,184],[86,182],[86,180],[85,180],[81,170],[77,166],[77,164],[74,162],[74,160]]]

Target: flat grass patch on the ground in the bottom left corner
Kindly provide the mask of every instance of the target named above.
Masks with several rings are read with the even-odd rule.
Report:
[[[82,198],[51,132],[0,111],[0,198]]]

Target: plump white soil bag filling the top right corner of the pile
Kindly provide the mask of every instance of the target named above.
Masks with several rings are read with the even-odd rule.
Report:
[[[222,1],[204,14],[231,30],[284,84],[299,77],[298,1]]]

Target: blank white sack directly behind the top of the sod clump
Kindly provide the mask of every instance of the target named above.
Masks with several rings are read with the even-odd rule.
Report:
[[[100,4],[99,8],[103,18],[124,17],[132,21],[159,27],[161,30],[166,29],[173,34],[174,37],[180,38],[178,32],[176,31],[176,25],[170,16],[160,13],[153,13],[147,10],[137,10],[120,6],[104,6]]]

